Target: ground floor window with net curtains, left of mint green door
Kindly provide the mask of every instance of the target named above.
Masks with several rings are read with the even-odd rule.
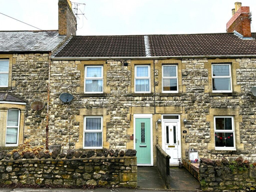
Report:
[[[102,116],[84,117],[84,148],[102,149]]]

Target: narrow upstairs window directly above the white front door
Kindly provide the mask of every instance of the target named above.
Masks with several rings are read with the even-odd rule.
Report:
[[[162,92],[178,92],[177,65],[162,65]]]

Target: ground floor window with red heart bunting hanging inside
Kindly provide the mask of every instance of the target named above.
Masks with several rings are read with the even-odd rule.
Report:
[[[234,118],[232,116],[215,116],[214,136],[216,150],[235,150]]]

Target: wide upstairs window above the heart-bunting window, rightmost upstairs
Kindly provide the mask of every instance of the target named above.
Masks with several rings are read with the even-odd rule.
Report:
[[[212,92],[232,92],[231,64],[212,64]]]

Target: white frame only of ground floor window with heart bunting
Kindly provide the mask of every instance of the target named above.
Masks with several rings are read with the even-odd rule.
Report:
[[[231,118],[232,130],[216,130],[216,118]],[[214,147],[215,150],[236,150],[236,137],[235,137],[234,117],[233,116],[214,116]],[[216,147],[215,146],[215,132],[233,133],[234,147]]]

